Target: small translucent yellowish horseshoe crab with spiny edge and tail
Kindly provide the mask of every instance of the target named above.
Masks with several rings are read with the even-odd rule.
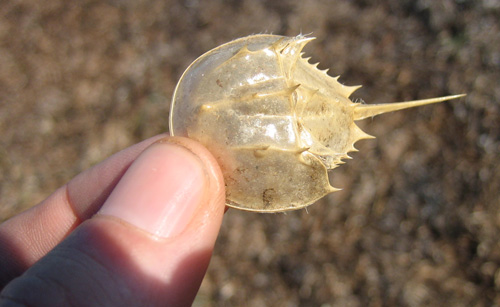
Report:
[[[253,35],[195,60],[175,89],[170,134],[205,145],[219,162],[230,207],[304,208],[333,188],[328,170],[373,138],[354,123],[464,95],[389,104],[349,100],[340,84],[303,58],[313,38]]]

